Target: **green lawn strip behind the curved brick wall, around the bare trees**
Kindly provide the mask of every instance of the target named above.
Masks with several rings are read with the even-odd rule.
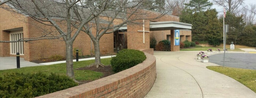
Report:
[[[110,60],[111,60],[111,58],[101,59],[101,63],[103,63],[104,65],[109,65]],[[101,77],[103,75],[103,73],[101,73],[101,72],[94,72],[94,71],[88,71],[88,70],[75,70],[76,68],[85,67],[92,63],[94,63],[94,60],[74,62],[75,79],[76,80],[99,79],[99,77]],[[66,63],[35,66],[35,67],[23,67],[20,69],[0,70],[0,74],[3,75],[4,73],[11,73],[11,72],[36,73],[39,71],[47,73],[47,74],[56,73],[59,75],[66,75]]]

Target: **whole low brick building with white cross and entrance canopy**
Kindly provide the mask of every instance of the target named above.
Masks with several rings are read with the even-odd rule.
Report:
[[[21,38],[35,38],[44,35],[42,30],[53,30],[53,34],[58,34],[57,30],[50,26],[45,26],[34,19],[14,14],[0,8],[0,41],[15,41]],[[146,17],[159,15],[151,12]],[[153,36],[157,41],[167,39],[174,43],[174,30],[179,30],[181,41],[191,41],[191,24],[179,22],[179,17],[164,15],[159,19],[140,20],[141,24],[126,24],[118,31],[104,34],[100,39],[101,54],[114,53],[120,49],[147,49],[149,40]],[[185,29],[185,30],[183,30]],[[74,49],[80,50],[82,55],[93,54],[93,43],[85,33],[79,33],[74,41]],[[179,45],[171,44],[171,51],[178,51]],[[42,39],[30,42],[0,43],[0,57],[16,56],[19,52],[21,57],[27,61],[49,58],[54,55],[65,56],[65,42],[60,39]]]

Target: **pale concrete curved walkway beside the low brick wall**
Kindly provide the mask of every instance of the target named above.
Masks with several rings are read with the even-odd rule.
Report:
[[[199,51],[159,52],[156,81],[145,98],[255,98],[248,87],[196,60]]]

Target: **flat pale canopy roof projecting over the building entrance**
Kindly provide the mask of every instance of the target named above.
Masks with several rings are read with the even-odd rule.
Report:
[[[175,22],[175,21],[165,21],[165,22],[150,22],[150,31],[159,30],[182,30],[182,29],[192,29],[192,24]]]

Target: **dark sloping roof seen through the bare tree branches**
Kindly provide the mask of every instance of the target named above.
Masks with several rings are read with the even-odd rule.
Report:
[[[66,19],[67,18],[67,7],[68,4],[57,2],[55,0],[34,0],[37,3],[37,7],[41,10],[39,11],[36,8],[36,5],[31,0],[12,0],[7,3],[11,8],[15,9],[16,12],[19,12],[23,15],[29,15],[31,17],[36,18],[45,18],[45,16],[57,19]],[[90,9],[86,6],[81,5],[73,5],[74,9],[70,10],[72,12],[72,18],[74,20],[78,20],[78,18],[88,19],[93,14],[97,14],[97,9]],[[77,13],[75,11],[79,13]],[[112,17],[116,14],[115,11],[106,10],[101,12],[101,16]],[[118,18],[124,17],[125,14],[120,14],[117,16]],[[115,16],[114,16],[115,17]],[[116,18],[116,17],[115,17]],[[105,20],[102,20],[103,22]]]

